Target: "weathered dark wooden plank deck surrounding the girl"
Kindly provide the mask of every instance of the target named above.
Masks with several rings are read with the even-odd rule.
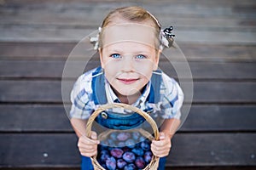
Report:
[[[62,71],[77,42],[110,9],[127,5],[175,26],[193,74],[193,105],[172,141],[167,169],[255,169],[253,0],[1,0],[0,168],[79,169],[77,138],[62,104]],[[90,61],[90,68],[96,65]],[[164,59],[160,65],[172,75]]]

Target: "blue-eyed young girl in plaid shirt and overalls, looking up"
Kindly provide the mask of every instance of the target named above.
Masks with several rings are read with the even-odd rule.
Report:
[[[90,156],[97,153],[96,132],[84,135],[85,124],[99,105],[120,102],[164,119],[160,140],[152,141],[151,150],[160,157],[158,169],[165,169],[171,139],[180,124],[183,92],[172,78],[158,69],[160,52],[172,46],[172,28],[161,30],[158,20],[140,7],[117,8],[103,20],[96,48],[101,66],[84,73],[73,86],[71,123],[79,137],[82,169],[93,169]],[[109,113],[110,114],[110,113]],[[104,113],[96,122],[104,127],[123,129],[142,123],[139,116],[125,121]]]

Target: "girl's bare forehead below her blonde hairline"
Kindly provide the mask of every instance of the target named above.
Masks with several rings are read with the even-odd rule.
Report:
[[[112,24],[102,29],[102,48],[117,42],[138,42],[154,47],[155,40],[155,29],[152,26],[123,23]]]

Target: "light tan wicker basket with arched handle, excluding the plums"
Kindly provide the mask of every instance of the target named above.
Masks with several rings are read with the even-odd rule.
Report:
[[[86,130],[85,130],[86,136],[90,137],[92,123],[96,119],[96,116],[98,116],[102,111],[105,111],[105,110],[108,110],[108,109],[111,109],[111,108],[117,108],[117,107],[122,107],[122,108],[125,108],[127,110],[137,112],[137,114],[143,116],[146,119],[146,121],[151,125],[151,127],[154,131],[154,138],[152,137],[152,135],[150,133],[148,133],[147,131],[145,131],[143,129],[137,129],[137,130],[140,131],[140,133],[142,133],[148,139],[156,139],[156,140],[159,139],[160,133],[159,133],[158,127],[157,127],[156,123],[154,122],[154,120],[151,118],[151,116],[148,116],[148,113],[146,113],[146,112],[144,112],[144,111],[142,111],[142,110],[140,110],[137,107],[134,107],[132,105],[125,105],[125,104],[121,104],[121,103],[102,105],[96,111],[94,111],[94,113],[90,116],[90,118],[87,122],[87,125],[86,125]],[[113,130],[113,131],[115,131],[115,130]],[[108,131],[108,133],[111,133],[111,130]],[[105,132],[105,133],[99,134],[99,136],[98,136],[99,139],[104,138],[104,136],[108,135],[108,133]],[[93,164],[93,167],[94,167],[95,170],[105,170],[105,168],[102,167],[100,165],[100,163],[96,160],[96,156],[92,156],[90,159],[92,161],[92,164]],[[143,170],[149,170],[149,169],[150,170],[156,170],[158,165],[159,165],[159,157],[158,156],[153,156],[150,163],[148,163],[147,167],[145,167]]]

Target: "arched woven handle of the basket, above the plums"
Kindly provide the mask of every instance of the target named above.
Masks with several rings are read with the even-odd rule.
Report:
[[[98,116],[102,111],[105,111],[105,110],[108,110],[108,109],[111,109],[111,108],[117,108],[117,107],[122,107],[122,108],[125,108],[127,110],[137,112],[137,114],[143,116],[146,119],[146,121],[151,125],[151,127],[154,131],[154,139],[159,140],[160,133],[159,133],[158,127],[157,127],[156,123],[154,122],[154,120],[152,119],[152,117],[149,116],[148,113],[146,113],[145,111],[142,111],[142,110],[138,109],[135,106],[126,105],[126,104],[122,104],[122,103],[113,103],[113,104],[101,105],[96,111],[94,111],[91,114],[91,116],[89,117],[89,120],[86,124],[85,135],[90,137],[90,135],[91,135],[91,126],[92,126],[92,123],[94,122],[94,120],[96,119],[96,116]]]

